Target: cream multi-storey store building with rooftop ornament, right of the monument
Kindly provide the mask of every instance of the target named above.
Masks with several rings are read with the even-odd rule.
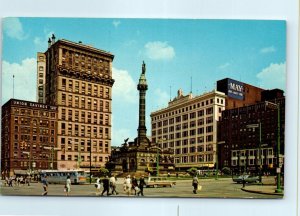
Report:
[[[173,151],[177,169],[215,166],[217,121],[225,99],[216,90],[196,97],[179,90],[167,108],[151,113],[152,142]]]

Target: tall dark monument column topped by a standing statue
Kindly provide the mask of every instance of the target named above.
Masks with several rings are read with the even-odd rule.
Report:
[[[146,128],[146,91],[148,90],[147,80],[146,80],[146,65],[143,61],[142,74],[139,79],[139,84],[137,89],[140,92],[139,99],[139,127],[138,127],[138,145],[141,143],[147,143],[147,128]]]

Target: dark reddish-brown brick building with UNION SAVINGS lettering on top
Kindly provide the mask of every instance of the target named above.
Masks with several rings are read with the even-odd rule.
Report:
[[[2,177],[56,169],[57,107],[11,99],[2,106]],[[22,172],[23,171],[23,172]]]

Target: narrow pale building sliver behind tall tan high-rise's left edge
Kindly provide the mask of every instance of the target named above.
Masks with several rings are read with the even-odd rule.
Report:
[[[36,101],[38,103],[46,103],[46,55],[44,53],[37,53],[37,95]]]

